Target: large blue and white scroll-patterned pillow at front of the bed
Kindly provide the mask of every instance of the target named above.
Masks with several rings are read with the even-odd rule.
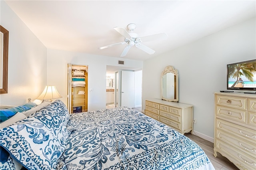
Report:
[[[68,143],[69,118],[65,104],[56,100],[36,114],[0,129],[0,146],[27,169],[56,169]]]

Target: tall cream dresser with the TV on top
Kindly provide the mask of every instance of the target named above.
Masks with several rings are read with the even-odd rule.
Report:
[[[256,170],[256,95],[215,94],[214,156],[241,170]]]

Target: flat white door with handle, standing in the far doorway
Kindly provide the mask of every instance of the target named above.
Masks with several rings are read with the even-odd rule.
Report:
[[[121,106],[134,108],[134,71],[121,71]]]

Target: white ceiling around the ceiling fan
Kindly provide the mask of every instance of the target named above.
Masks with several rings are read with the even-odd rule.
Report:
[[[126,46],[114,27],[130,23],[139,37],[166,33],[167,40],[144,42],[152,55],[132,47],[127,59],[146,60],[255,17],[255,0],[8,0],[6,3],[50,49],[119,57]]]

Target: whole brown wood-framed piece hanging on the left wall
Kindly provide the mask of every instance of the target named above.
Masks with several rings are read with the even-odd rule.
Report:
[[[0,26],[0,94],[8,89],[8,44],[9,32]]]

